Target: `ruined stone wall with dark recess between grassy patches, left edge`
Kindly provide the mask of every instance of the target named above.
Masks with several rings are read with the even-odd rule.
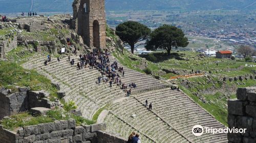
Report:
[[[15,93],[2,88],[0,89],[0,119],[34,107],[60,106],[59,101],[51,102],[48,96],[49,94],[44,91],[29,91],[26,87],[19,87]]]

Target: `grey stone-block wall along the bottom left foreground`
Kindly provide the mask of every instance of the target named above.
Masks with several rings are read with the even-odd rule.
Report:
[[[77,126],[74,119],[55,121],[19,128],[17,132],[3,129],[0,125],[0,139],[3,143],[125,143],[122,138],[105,133],[106,125]]]

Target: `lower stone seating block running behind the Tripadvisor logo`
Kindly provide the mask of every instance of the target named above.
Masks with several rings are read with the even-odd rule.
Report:
[[[188,130],[192,129],[195,125],[224,128],[224,125],[216,121],[214,117],[180,91],[163,88],[137,94],[135,98],[141,103],[145,103],[145,100],[152,103],[153,111],[189,140],[195,141],[197,139],[197,137]],[[205,134],[201,137],[204,141],[208,140],[208,142],[227,141],[226,134]]]

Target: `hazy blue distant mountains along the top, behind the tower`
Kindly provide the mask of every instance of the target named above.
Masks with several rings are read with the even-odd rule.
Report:
[[[93,1],[93,0],[92,0]],[[73,0],[0,0],[0,13],[72,12]],[[106,11],[256,10],[256,0],[105,0]]]

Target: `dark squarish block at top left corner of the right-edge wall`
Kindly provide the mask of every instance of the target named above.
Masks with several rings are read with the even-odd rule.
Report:
[[[243,102],[237,99],[228,100],[228,113],[233,115],[244,115],[245,107]]]

